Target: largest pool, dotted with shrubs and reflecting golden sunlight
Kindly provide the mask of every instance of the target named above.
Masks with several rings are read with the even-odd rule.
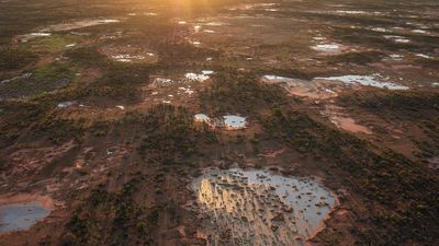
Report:
[[[311,178],[269,171],[207,169],[191,184],[207,245],[303,245],[336,198]],[[198,207],[198,208],[196,208]]]

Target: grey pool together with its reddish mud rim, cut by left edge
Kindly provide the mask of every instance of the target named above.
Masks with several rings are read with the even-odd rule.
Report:
[[[15,195],[0,198],[0,233],[29,230],[50,214],[54,201],[49,197]]]

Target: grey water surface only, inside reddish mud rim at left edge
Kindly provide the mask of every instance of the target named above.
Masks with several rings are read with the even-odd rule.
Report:
[[[0,233],[27,230],[49,213],[40,201],[0,206]]]

